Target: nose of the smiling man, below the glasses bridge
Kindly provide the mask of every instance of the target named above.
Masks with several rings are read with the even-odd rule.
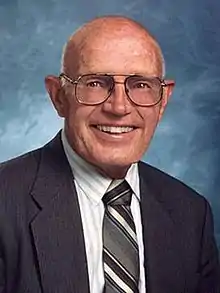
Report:
[[[108,100],[103,103],[103,111],[115,115],[125,116],[131,112],[132,105],[126,94],[123,82],[115,82]]]

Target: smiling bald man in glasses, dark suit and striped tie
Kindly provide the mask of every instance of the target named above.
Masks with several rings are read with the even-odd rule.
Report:
[[[220,292],[210,206],[140,162],[174,81],[131,19],[92,20],[45,84],[64,130],[0,167],[0,292]]]

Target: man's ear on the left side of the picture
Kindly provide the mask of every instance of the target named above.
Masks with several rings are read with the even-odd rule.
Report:
[[[65,117],[65,99],[62,93],[60,79],[54,75],[46,76],[45,87],[58,115],[60,117]]]

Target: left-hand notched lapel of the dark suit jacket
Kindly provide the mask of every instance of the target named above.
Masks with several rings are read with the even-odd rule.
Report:
[[[43,292],[89,292],[77,194],[60,136],[42,149],[32,195],[41,209],[31,229]]]

